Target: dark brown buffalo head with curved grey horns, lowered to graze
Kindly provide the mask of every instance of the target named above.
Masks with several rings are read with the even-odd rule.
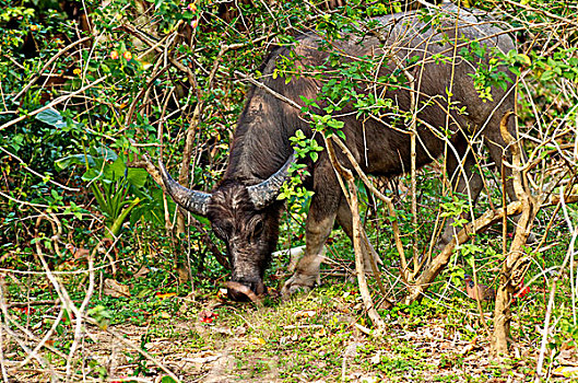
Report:
[[[276,246],[282,202],[276,197],[288,177],[291,156],[268,179],[247,186],[237,179],[224,179],[213,193],[190,190],[170,177],[158,161],[166,192],[184,209],[207,217],[215,235],[227,248],[232,281],[241,283],[257,295],[266,292],[263,276]],[[248,298],[228,289],[236,301]]]

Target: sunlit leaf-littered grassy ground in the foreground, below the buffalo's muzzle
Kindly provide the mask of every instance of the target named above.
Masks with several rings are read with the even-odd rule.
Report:
[[[162,364],[184,382],[523,382],[532,380],[535,370],[544,306],[543,294],[534,289],[515,307],[511,357],[497,360],[489,358],[485,326],[461,286],[448,285],[440,300],[381,311],[388,328],[376,334],[356,286],[339,278],[326,278],[322,287],[290,302],[269,300],[263,307],[232,303],[215,289],[198,289],[187,297],[148,290],[139,294],[134,291],[139,285],[132,282],[131,298],[103,297],[97,302],[113,317],[106,330],[85,327],[75,356],[79,380],[84,375],[86,381],[154,382],[164,375]],[[492,304],[484,303],[483,309],[491,325]],[[23,321],[27,317],[38,333],[56,311],[14,313]],[[51,345],[66,352],[73,327],[70,323],[60,327]],[[562,348],[554,345],[548,351],[550,372],[578,362],[576,355],[561,352]],[[22,352],[11,352],[15,349],[8,345],[4,356],[22,360]],[[566,349],[574,352],[574,347]],[[62,365],[52,362],[57,371]],[[12,379],[44,382],[49,374],[36,365]]]

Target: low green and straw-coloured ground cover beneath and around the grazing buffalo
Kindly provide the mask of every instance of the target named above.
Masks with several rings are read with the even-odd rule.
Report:
[[[286,222],[300,220],[284,221],[282,228],[284,233],[298,232]],[[526,279],[529,293],[512,305],[507,357],[491,357],[493,302],[482,302],[481,313],[464,293],[463,281],[456,278],[471,269],[467,260],[473,259],[472,254],[453,257],[421,302],[378,307],[387,328],[376,333],[353,276],[351,244],[335,231],[321,286],[292,301],[275,298],[274,288],[288,277],[284,266],[288,259],[278,257],[267,276],[270,298],[262,307],[227,300],[220,288],[225,270],[214,259],[196,259],[193,269],[199,274],[192,275],[192,282],[187,281],[189,274],[178,268],[173,271],[174,258],[161,253],[165,249],[154,237],[137,235],[134,243],[142,246],[125,246],[116,276],[108,268],[95,275],[86,314],[96,323],[89,321],[78,327],[74,350],[74,315],[61,310],[58,294],[44,275],[25,274],[25,268],[14,265],[13,272],[0,272],[5,292],[0,303],[8,303],[0,307],[5,324],[0,334],[0,358],[14,382],[62,378],[67,358],[73,365],[72,381],[83,382],[170,383],[167,371],[182,382],[533,381],[548,292],[568,245],[563,231],[551,236],[543,251],[533,254]],[[382,255],[382,277],[390,297],[400,302],[404,289],[397,279],[399,260],[387,237],[373,241]],[[477,252],[477,277],[493,286],[502,262],[502,244],[492,240],[495,237],[499,232],[482,235],[476,241],[480,251],[469,247]],[[282,245],[290,246],[283,241]],[[103,255],[98,257],[106,262]],[[59,271],[86,267],[74,260],[51,262]],[[30,270],[34,265],[24,266]],[[543,370],[546,381],[568,381],[578,370],[570,277],[568,270],[558,283]],[[89,289],[84,274],[59,275],[59,280],[75,302]],[[375,301],[379,304],[380,297]],[[32,352],[50,328],[48,347]],[[31,361],[21,365],[31,355]]]

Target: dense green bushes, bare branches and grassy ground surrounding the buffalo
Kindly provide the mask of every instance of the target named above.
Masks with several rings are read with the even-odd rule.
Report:
[[[413,175],[371,179],[392,210],[355,184],[363,228],[384,262],[384,290],[369,278],[368,291],[381,322],[359,297],[353,247],[339,230],[322,289],[281,302],[275,290],[291,260],[281,253],[263,305],[227,301],[222,243],[204,218],[176,209],[154,164],[162,156],[182,185],[212,189],[244,97],[273,45],[292,44],[305,31],[329,44],[343,31],[363,33],[371,16],[426,9],[424,1],[0,4],[4,381],[487,381],[506,374],[522,381],[576,373],[578,10],[571,1],[461,2],[492,12],[518,45],[496,53],[472,81],[481,100],[491,100],[492,86],[506,81],[496,67],[518,76],[516,115],[527,155],[515,170],[529,181],[522,204],[508,209],[526,221],[500,224],[503,179],[477,147],[487,187],[475,207],[448,188],[443,159]],[[462,54],[472,60],[486,54],[482,44],[468,46]],[[339,136],[332,115],[347,103],[364,111],[362,118],[387,108],[399,121],[412,119],[391,100],[356,98],[355,83],[371,65],[335,65],[343,81],[319,94],[331,105],[322,114],[302,100],[319,131]],[[292,73],[291,58],[278,69]],[[379,81],[409,86],[402,69]],[[320,149],[299,136],[295,143],[314,159]],[[297,184],[283,196],[279,249],[304,244],[310,197]],[[498,223],[449,249],[429,283],[427,270],[444,253],[435,248],[443,221],[456,218],[457,230],[481,228],[475,219],[483,213]],[[530,231],[536,241],[526,245]],[[498,290],[497,302],[468,298],[465,274]],[[511,323],[502,320],[506,311]],[[502,327],[509,355],[496,339]]]

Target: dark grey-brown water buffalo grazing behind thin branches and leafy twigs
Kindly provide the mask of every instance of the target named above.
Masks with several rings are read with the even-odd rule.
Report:
[[[375,19],[379,25],[367,28],[363,36],[344,35],[346,38],[335,39],[330,45],[311,32],[298,36],[294,45],[272,50],[261,68],[260,81],[264,86],[253,86],[248,93],[223,181],[212,193],[194,192],[179,185],[160,163],[166,190],[173,199],[182,208],[208,217],[216,236],[225,242],[234,282],[250,288],[256,294],[266,291],[263,275],[276,245],[283,210],[283,202],[276,196],[293,161],[290,138],[298,129],[308,137],[314,135],[309,121],[282,98],[304,105],[300,96],[316,98],[329,79],[340,80],[337,71],[331,69],[335,57],[339,57],[338,65],[356,60],[375,62],[373,72],[368,70],[367,76],[359,79],[357,90],[365,95],[374,93],[391,100],[399,108],[398,115],[399,111],[411,109],[409,90],[415,91],[417,166],[445,154],[455,189],[469,193],[474,200],[482,188],[482,179],[472,172],[475,161],[469,142],[483,140],[496,167],[502,167],[506,144],[499,132],[499,123],[508,111],[514,109],[515,77],[506,68],[496,68],[495,71],[502,71],[508,78],[507,86],[505,90],[492,88],[492,96],[482,100],[472,73],[476,68],[489,68],[489,55],[480,54],[480,47],[507,53],[515,48],[512,40],[495,26],[495,22],[482,20],[477,14],[458,10],[455,5],[427,12],[429,16],[426,18],[422,11]],[[460,57],[463,49],[476,51],[464,59]],[[273,72],[279,62],[290,57],[295,58],[294,69],[300,68],[303,72],[287,83],[283,76],[273,76]],[[311,69],[320,66],[327,68],[322,76]],[[401,70],[400,66],[408,66],[408,69]],[[413,85],[379,88],[369,81],[403,72],[410,73]],[[448,108],[449,93],[451,107]],[[409,171],[411,140],[408,127],[403,126],[409,123],[399,118],[394,121],[392,113],[382,113],[380,118],[357,118],[352,104],[340,111],[335,118],[344,123],[342,131],[346,146],[362,169],[382,176]],[[512,118],[508,129],[516,137]],[[318,142],[322,144],[322,140]],[[339,159],[349,164],[345,156]],[[293,277],[285,282],[284,294],[307,290],[315,285],[319,275],[319,253],[335,218],[352,236],[351,211],[327,152],[321,152],[316,162],[307,160],[306,164],[310,176],[305,185],[315,192],[306,223],[306,252]],[[509,178],[508,174],[506,178]],[[506,189],[510,198],[516,198],[511,183]],[[451,239],[450,229],[443,234],[443,242]],[[229,289],[228,294],[235,300],[246,299],[236,290]]]

